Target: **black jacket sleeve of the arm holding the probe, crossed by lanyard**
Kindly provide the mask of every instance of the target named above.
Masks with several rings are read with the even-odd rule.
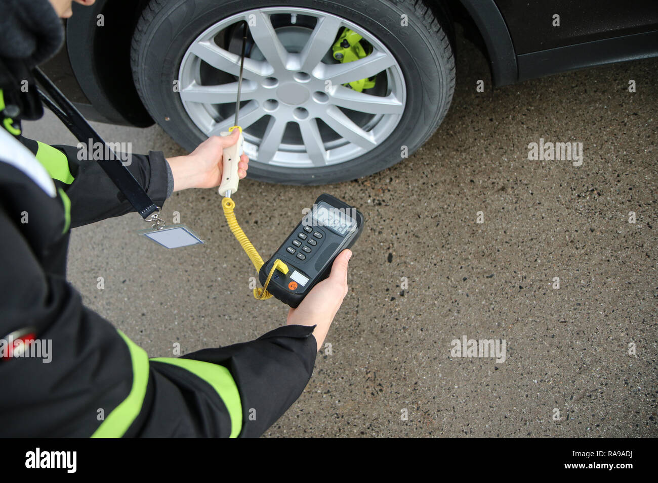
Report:
[[[134,211],[99,164],[105,162],[104,150],[49,146],[26,137],[21,137],[20,141],[32,151],[51,175],[55,185],[61,187],[70,199],[72,228]],[[150,151],[149,155],[145,156],[117,152],[116,156],[151,196],[153,202],[162,206],[174,189],[172,173],[163,153]]]

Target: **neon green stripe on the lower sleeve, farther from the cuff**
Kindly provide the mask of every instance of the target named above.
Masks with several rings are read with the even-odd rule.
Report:
[[[146,396],[146,386],[149,383],[149,356],[145,350],[132,342],[126,334],[117,331],[128,344],[132,361],[132,388],[130,394],[105,418],[92,438],[120,438],[138,417],[141,405]]]

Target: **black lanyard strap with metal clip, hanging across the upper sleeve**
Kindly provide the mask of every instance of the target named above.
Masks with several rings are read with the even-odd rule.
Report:
[[[139,185],[128,168],[122,164],[111,147],[105,144],[103,138],[101,138],[93,127],[89,126],[89,123],[82,117],[78,109],[64,97],[55,84],[39,68],[34,69],[34,78],[36,78],[50,96],[48,97],[41,89],[37,88],[41,101],[55,113],[55,116],[64,123],[64,126],[71,131],[80,143],[86,145],[89,139],[91,139],[94,144],[101,143],[111,153],[111,159],[99,162],[103,171],[107,173],[119,191],[126,196],[128,202],[137,210],[141,218],[144,221],[153,223],[151,228],[157,230],[163,229],[164,219],[160,218],[160,207],[155,206],[151,197]]]

